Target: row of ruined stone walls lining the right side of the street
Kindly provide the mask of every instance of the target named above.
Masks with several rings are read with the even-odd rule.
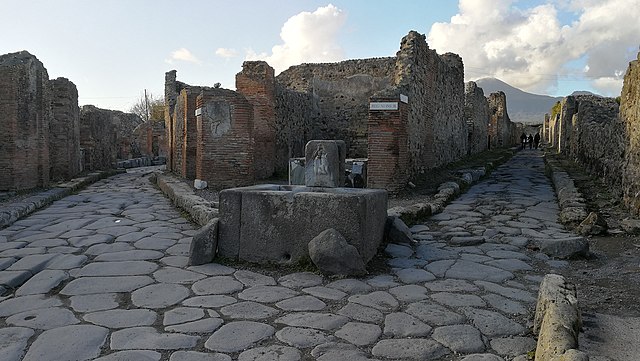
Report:
[[[640,58],[640,54],[639,54]],[[545,116],[542,135],[552,149],[582,164],[640,214],[640,65],[629,64],[620,102],[592,95],[568,96]]]

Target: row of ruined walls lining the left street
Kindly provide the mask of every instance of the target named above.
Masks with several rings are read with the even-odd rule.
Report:
[[[118,159],[148,155],[134,133],[142,123],[137,115],[94,106],[80,110],[75,84],[49,80],[27,51],[0,56],[0,114],[0,191],[47,187],[85,170],[111,169]]]

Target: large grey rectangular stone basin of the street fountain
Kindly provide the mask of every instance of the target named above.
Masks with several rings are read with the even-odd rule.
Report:
[[[264,184],[220,192],[218,256],[297,263],[334,228],[368,262],[384,238],[387,191]]]

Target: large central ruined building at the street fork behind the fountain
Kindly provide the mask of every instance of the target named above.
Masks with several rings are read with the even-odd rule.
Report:
[[[334,139],[345,143],[347,158],[368,158],[368,187],[398,191],[428,169],[485,150],[491,131],[493,147],[511,146],[516,139],[504,94],[487,100],[477,87],[465,90],[462,59],[438,55],[414,31],[402,39],[395,57],[301,64],[277,76],[266,62],[246,61],[236,88],[221,101],[232,110],[231,99],[244,98],[250,107],[246,111],[253,125],[246,128],[250,134],[243,152],[197,143],[224,139],[198,133],[196,114],[205,104],[195,103],[201,94],[222,90],[179,82],[175,70],[166,73],[169,170],[216,189],[251,184],[287,172],[289,159],[303,157],[309,140]],[[372,105],[380,102],[399,105]],[[211,158],[207,147],[217,149],[215,167],[231,169],[253,158],[254,169],[215,179],[215,170],[205,171],[203,159]]]

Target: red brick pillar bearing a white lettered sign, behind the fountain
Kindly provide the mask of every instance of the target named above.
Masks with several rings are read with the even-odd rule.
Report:
[[[371,98],[368,122],[367,187],[397,192],[409,180],[409,105],[397,97]]]

